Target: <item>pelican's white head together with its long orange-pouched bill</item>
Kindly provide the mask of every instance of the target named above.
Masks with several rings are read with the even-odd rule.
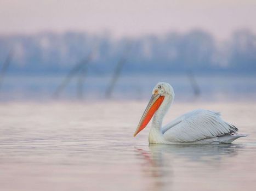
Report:
[[[136,136],[141,130],[143,130],[147,126],[147,124],[150,122],[151,118],[158,110],[158,108],[160,108],[164,100],[167,101],[167,103],[164,105],[167,106],[166,109],[168,109],[168,106],[170,105],[168,103],[171,103],[173,98],[173,87],[170,86],[169,83],[158,82],[152,90],[152,96],[149,104],[147,104],[147,107],[143,113],[143,116],[140,119],[138,127],[133,136]]]

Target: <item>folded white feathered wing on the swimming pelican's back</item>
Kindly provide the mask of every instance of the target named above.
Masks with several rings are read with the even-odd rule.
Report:
[[[171,142],[194,142],[235,134],[237,128],[223,121],[219,112],[195,110],[180,116],[162,129],[163,136]]]

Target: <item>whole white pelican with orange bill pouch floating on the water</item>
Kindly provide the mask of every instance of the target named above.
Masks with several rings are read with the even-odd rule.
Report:
[[[247,136],[238,134],[238,129],[223,121],[219,112],[203,109],[181,115],[162,127],[163,117],[173,100],[173,87],[169,83],[157,83],[134,136],[147,126],[152,117],[150,144],[230,144]]]

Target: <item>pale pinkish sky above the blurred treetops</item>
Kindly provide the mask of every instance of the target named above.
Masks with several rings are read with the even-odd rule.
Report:
[[[0,34],[73,30],[122,37],[195,28],[220,39],[240,28],[256,33],[256,0],[0,1]]]

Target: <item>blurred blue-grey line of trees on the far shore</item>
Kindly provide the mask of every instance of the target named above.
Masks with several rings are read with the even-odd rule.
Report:
[[[123,73],[256,72],[256,34],[234,32],[217,41],[207,32],[170,32],[114,39],[110,34],[79,32],[1,35],[0,67],[12,51],[9,73],[66,73],[88,55],[90,74],[110,74],[120,59]]]

